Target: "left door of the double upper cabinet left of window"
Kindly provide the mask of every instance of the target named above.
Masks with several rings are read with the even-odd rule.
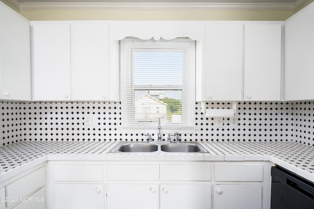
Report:
[[[70,25],[33,25],[33,100],[71,100]]]

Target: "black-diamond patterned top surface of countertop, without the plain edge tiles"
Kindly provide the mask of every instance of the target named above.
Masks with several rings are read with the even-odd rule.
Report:
[[[294,141],[201,141],[200,143],[209,153],[199,155],[264,156],[266,161],[268,161],[267,158],[270,155],[280,162],[314,174],[314,147],[302,143]],[[31,163],[45,155],[66,154],[74,156],[71,159],[75,159],[75,155],[80,154],[106,156],[117,144],[115,141],[23,141],[10,146],[3,146],[0,147],[0,174],[20,165]],[[190,155],[194,156],[195,154]]]

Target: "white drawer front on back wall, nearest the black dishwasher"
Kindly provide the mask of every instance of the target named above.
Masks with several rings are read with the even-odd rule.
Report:
[[[262,182],[262,165],[215,165],[215,181]]]

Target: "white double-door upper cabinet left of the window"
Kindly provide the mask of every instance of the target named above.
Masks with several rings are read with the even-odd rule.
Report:
[[[33,100],[119,101],[105,22],[34,22]]]

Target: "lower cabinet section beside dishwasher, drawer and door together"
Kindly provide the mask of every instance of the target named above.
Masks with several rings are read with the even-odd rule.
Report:
[[[214,165],[213,209],[262,209],[262,202],[263,209],[269,209],[267,197],[262,199],[262,189],[267,191],[264,167],[258,163]]]

